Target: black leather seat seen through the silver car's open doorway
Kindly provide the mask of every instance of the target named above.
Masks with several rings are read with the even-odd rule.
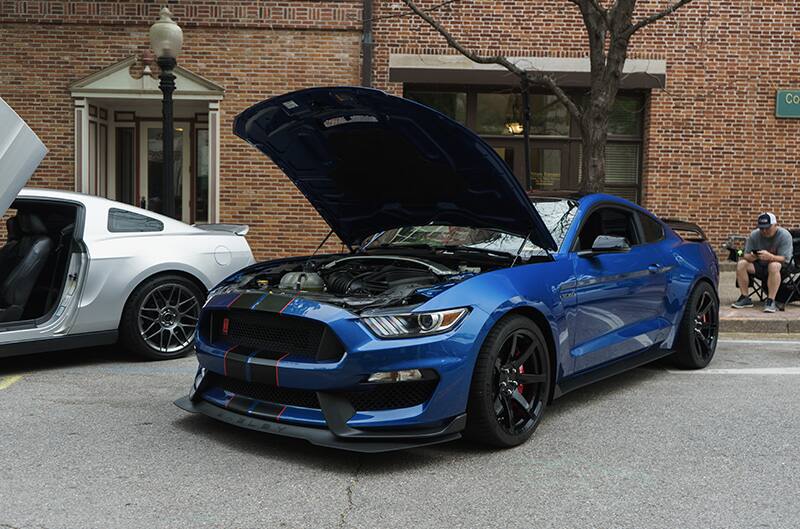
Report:
[[[19,241],[10,250],[7,275],[0,276],[0,322],[17,321],[53,249],[47,226],[32,213],[16,216]]]

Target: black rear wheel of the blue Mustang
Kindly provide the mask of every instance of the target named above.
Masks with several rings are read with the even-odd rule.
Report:
[[[683,369],[703,369],[717,349],[719,337],[719,301],[708,283],[699,283],[686,303],[674,355]]]

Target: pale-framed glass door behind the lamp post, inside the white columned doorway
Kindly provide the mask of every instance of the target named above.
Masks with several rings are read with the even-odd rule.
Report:
[[[164,210],[164,144],[161,123],[142,122],[140,127],[139,206],[163,213]],[[173,139],[173,186],[176,218],[191,222],[191,135],[189,124],[176,122]]]

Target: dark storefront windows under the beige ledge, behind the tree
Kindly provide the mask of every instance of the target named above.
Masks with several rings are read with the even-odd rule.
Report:
[[[571,94],[585,101],[583,93]],[[522,96],[505,88],[406,85],[405,97],[430,106],[480,134],[529,190],[576,190],[581,171],[580,128],[552,94],[531,93],[531,167],[526,171]],[[644,94],[621,93],[609,115],[606,190],[641,200]],[[526,174],[527,173],[527,174]]]

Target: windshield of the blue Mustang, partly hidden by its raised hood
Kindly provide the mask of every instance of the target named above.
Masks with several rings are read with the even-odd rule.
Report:
[[[577,202],[561,199],[536,199],[534,207],[553,234],[556,244],[561,246],[569,229]],[[430,248],[467,248],[486,252],[517,255],[529,259],[534,255],[546,255],[546,252],[523,237],[498,230],[469,228],[466,226],[445,226],[429,224],[427,226],[405,226],[394,228],[373,235],[367,239],[364,249],[385,247],[430,247]],[[522,251],[520,251],[522,247]]]

